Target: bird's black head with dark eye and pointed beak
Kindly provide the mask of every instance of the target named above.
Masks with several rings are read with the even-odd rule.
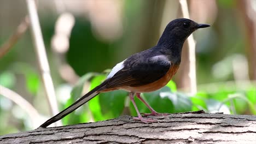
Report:
[[[210,25],[198,24],[189,19],[175,19],[168,23],[159,43],[173,43],[177,41],[184,43],[196,29],[205,27],[210,27]]]

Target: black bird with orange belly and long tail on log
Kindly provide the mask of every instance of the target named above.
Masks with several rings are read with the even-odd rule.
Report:
[[[210,27],[210,25],[199,24],[190,19],[180,18],[172,20],[167,24],[158,43],[154,47],[135,53],[123,62],[115,65],[106,80],[100,85],[86,93],[65,110],[48,119],[40,127],[46,128],[50,124],[59,121],[100,93],[117,89],[129,92],[129,97],[138,115],[133,117],[133,119],[144,123],[154,122],[154,119],[144,118],[139,113],[134,100],[135,96],[151,111],[151,113],[145,113],[144,116],[161,115],[141,97],[141,93],[156,91],[164,87],[172,79],[181,63],[184,41],[196,29],[206,27]]]

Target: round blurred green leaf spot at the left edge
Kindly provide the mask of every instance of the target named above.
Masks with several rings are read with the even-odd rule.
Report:
[[[2,74],[0,74],[0,85],[4,87],[7,87],[7,88],[14,87],[15,81],[16,81],[15,76],[10,71],[4,71]]]

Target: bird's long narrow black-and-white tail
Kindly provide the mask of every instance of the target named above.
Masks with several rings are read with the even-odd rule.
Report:
[[[65,110],[61,111],[60,113],[58,113],[54,117],[48,119],[45,123],[40,125],[40,127],[46,128],[46,127],[48,127],[48,125],[50,125],[50,124],[52,124],[54,122],[59,121],[61,118],[67,116],[69,113],[71,113],[74,110],[78,109],[78,107],[82,106],[84,103],[86,103],[90,99],[94,98],[96,95],[100,94],[97,91],[98,91],[98,89],[102,88],[105,85],[105,82],[101,83],[101,85],[95,87],[90,92],[86,93],[82,98],[80,98],[77,101],[75,101],[75,103],[73,103],[71,106],[68,106]]]

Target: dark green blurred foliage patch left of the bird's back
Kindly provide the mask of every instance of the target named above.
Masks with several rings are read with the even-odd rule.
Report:
[[[71,33],[67,61],[80,76],[89,72],[90,69],[102,71],[110,67],[111,57],[109,56],[113,50],[111,47],[113,47],[113,44],[107,44],[95,38],[89,21],[77,19]],[[92,59],[94,64],[81,67],[81,65],[85,64],[84,62],[91,62]],[[102,61],[102,59],[107,59],[108,61]],[[98,65],[104,65],[104,67],[98,67]]]

